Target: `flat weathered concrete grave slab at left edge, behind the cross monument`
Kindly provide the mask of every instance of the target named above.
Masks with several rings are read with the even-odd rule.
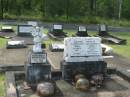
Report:
[[[24,65],[28,58],[29,48],[0,49],[0,65]]]

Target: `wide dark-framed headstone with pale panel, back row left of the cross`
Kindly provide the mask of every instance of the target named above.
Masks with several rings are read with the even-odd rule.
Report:
[[[33,30],[33,26],[31,25],[18,25],[19,36],[32,36],[31,35],[32,30]]]

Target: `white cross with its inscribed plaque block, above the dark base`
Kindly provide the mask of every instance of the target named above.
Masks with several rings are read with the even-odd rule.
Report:
[[[33,50],[30,56],[31,64],[40,64],[47,62],[47,54],[42,50],[42,41],[46,39],[46,36],[42,34],[39,27],[33,27],[31,31],[32,36],[34,37]]]

